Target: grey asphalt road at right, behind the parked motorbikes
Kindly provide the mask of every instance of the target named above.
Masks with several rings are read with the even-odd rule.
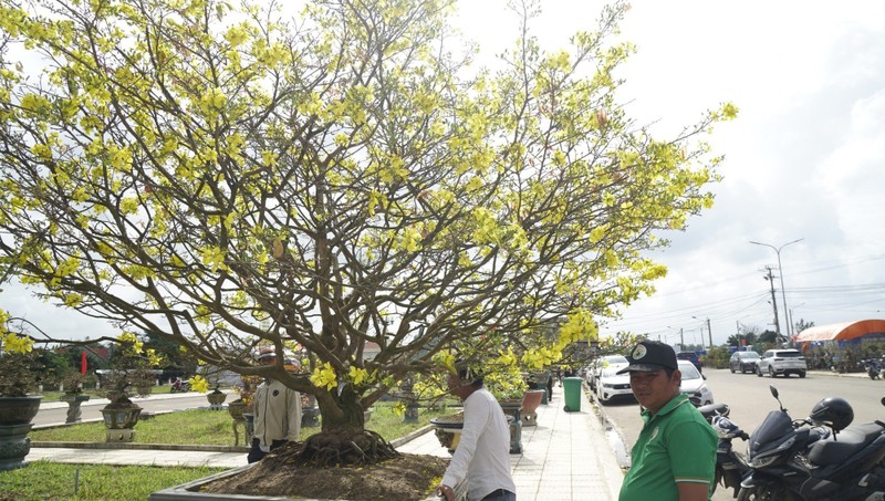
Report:
[[[885,397],[885,380],[840,377],[825,373],[810,373],[803,379],[796,376],[772,379],[768,376],[731,374],[728,369],[711,368],[705,368],[704,374],[716,403],[728,404],[731,408],[729,418],[748,434],[752,434],[770,410],[778,408],[769,385],[778,388],[781,403],[790,409],[793,418],[808,416],[814,404],[822,398],[837,396],[846,399],[854,408],[854,424],[885,420],[885,408],[879,401]],[[608,416],[629,450],[642,428],[639,406],[635,401],[612,403],[602,407],[602,411]],[[739,451],[746,451],[746,445],[740,439],[736,439],[735,445]],[[717,489],[712,499],[727,501],[732,498],[722,489]]]

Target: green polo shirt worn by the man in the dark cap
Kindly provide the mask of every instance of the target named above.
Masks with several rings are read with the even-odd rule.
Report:
[[[676,482],[712,487],[717,436],[698,409],[680,394],[654,416],[644,410],[643,430],[631,452],[620,501],[679,499]]]

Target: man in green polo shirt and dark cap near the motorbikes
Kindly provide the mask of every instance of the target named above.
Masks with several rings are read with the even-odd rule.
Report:
[[[683,374],[670,345],[643,341],[627,356],[633,395],[645,425],[631,452],[620,501],[701,501],[711,494],[716,431],[679,390]]]

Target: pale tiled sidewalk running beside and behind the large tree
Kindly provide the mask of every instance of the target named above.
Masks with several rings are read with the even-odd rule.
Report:
[[[565,413],[563,388],[554,387],[550,404],[538,408],[538,426],[522,428],[521,455],[511,455],[520,501],[616,500],[623,473],[598,415],[582,395],[581,411]],[[152,397],[153,398],[153,397]],[[400,452],[449,457],[433,431],[397,447]],[[220,450],[85,449],[32,447],[29,461],[210,466],[244,466],[244,452]]]

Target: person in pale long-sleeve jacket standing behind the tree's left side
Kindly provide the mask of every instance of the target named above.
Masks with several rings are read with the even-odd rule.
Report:
[[[261,348],[258,362],[277,363],[273,348]],[[256,462],[287,441],[298,441],[301,434],[301,395],[282,383],[268,378],[258,385],[252,405],[254,432],[247,460]]]

